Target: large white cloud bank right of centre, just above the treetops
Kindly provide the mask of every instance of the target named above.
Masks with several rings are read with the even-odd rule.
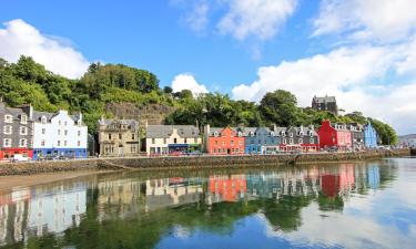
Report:
[[[410,83],[383,79],[410,60],[407,45],[339,48],[276,66],[258,69],[252,84],[235,86],[234,98],[260,101],[277,89],[294,93],[302,106],[310,106],[314,95],[336,95],[338,105],[347,112],[362,111],[365,115],[393,124],[399,133],[416,128],[416,80]],[[405,63],[406,64],[406,63]]]

